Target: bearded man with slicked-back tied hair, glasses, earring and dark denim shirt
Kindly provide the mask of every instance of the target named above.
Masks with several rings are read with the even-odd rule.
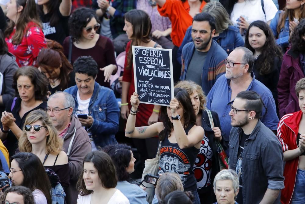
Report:
[[[282,146],[261,121],[264,102],[255,91],[237,94],[229,116],[229,167],[239,176],[236,202],[280,203],[284,188]]]

